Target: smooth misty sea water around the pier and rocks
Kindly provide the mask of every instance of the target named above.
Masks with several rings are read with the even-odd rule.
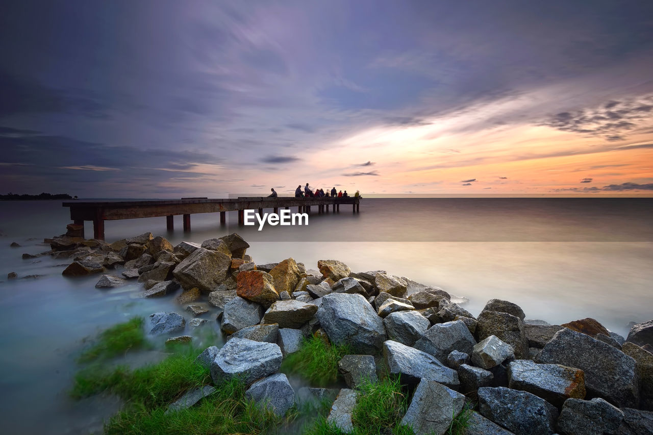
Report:
[[[268,210],[266,210],[268,211]],[[653,199],[364,199],[360,214],[317,215],[307,227],[238,227],[235,213],[191,216],[191,233],[164,217],[107,221],[108,242],[151,231],[172,244],[238,232],[257,263],[293,257],[309,268],[340,259],[352,270],[387,270],[469,298],[519,304],[528,318],[594,317],[608,329],[653,317]],[[111,398],[67,396],[84,338],[133,315],[182,307],[174,296],[140,299],[140,286],[102,291],[99,276],[61,276],[68,261],[22,260],[70,223],[61,201],[0,202],[0,416],[3,433],[88,434],[116,410]],[[92,223],[86,223],[92,235]],[[9,248],[18,242],[20,248]],[[7,280],[8,272],[19,279]],[[22,278],[38,275],[38,278]],[[209,315],[210,316],[210,315]],[[189,315],[185,315],[187,319]],[[212,320],[213,317],[207,317]],[[212,322],[209,329],[218,330]],[[209,334],[210,335],[210,334]],[[161,346],[163,338],[155,340]],[[204,336],[203,344],[221,344]],[[157,353],[150,355],[155,358]]]

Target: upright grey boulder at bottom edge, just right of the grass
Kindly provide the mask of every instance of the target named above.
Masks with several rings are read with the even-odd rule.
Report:
[[[421,379],[400,425],[416,435],[445,434],[462,411],[465,396],[435,381]]]

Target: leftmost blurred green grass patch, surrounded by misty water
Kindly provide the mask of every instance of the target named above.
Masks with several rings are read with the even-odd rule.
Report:
[[[142,317],[134,317],[125,323],[104,330],[100,333],[97,342],[78,357],[77,362],[109,359],[124,355],[130,349],[147,347],[143,323]]]

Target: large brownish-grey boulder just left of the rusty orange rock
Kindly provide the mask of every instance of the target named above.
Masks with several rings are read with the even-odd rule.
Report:
[[[172,272],[184,290],[197,287],[210,293],[227,279],[231,258],[219,251],[197,248]]]

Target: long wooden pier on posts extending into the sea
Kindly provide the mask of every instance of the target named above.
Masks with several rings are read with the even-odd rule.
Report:
[[[238,225],[245,223],[245,210],[258,210],[263,214],[264,208],[272,208],[275,213],[279,208],[296,207],[300,213],[310,213],[316,206],[319,214],[328,213],[329,206],[333,212],[340,212],[340,205],[350,204],[352,211],[358,213],[360,199],[346,198],[295,198],[295,197],[238,197],[236,199],[176,199],[165,201],[123,201],[123,202],[63,202],[71,209],[71,220],[76,225],[84,221],[93,221],[93,238],[104,240],[104,221],[118,219],[138,219],[140,217],[165,216],[168,231],[174,230],[173,216],[183,215],[183,230],[191,229],[191,214],[219,213],[220,224],[227,223],[227,212],[238,212]]]

